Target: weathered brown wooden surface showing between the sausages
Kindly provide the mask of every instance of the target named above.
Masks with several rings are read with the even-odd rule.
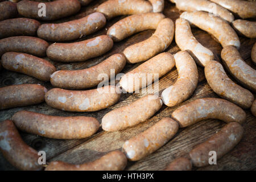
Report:
[[[82,7],[79,14],[71,16],[69,18],[57,20],[56,22],[65,22],[67,20],[78,19],[88,14],[91,14],[95,11],[95,8],[104,1],[94,1],[90,3],[87,7]],[[176,20],[181,12],[176,9],[175,5],[166,1],[166,6],[164,9],[164,15],[172,20]],[[110,20],[102,30],[86,36],[80,40],[85,40],[93,38],[94,36],[106,34],[106,28],[112,26],[113,23],[117,22],[119,19],[122,19],[125,16],[114,18]],[[43,22],[42,22],[43,23]],[[152,35],[154,30],[147,30],[139,32],[122,42],[115,43],[112,50],[107,52],[105,55],[84,61],[82,63],[57,63],[51,61],[56,68],[59,69],[84,69],[92,67],[105,60],[110,55],[114,53],[121,53],[123,49],[131,44],[141,42],[144,39],[147,39]],[[192,32],[195,35],[196,39],[199,40],[203,46],[209,48],[214,52],[214,57],[217,61],[221,61],[220,52],[221,46],[212,37],[207,34],[207,32],[201,31],[198,28],[192,28]],[[251,65],[254,69],[255,66],[251,64],[250,51],[255,43],[255,39],[247,39],[240,37],[241,48],[240,53],[242,58]],[[76,40],[79,41],[79,40]],[[168,52],[174,54],[179,51],[175,41],[172,42],[171,46],[167,49]],[[48,58],[46,58],[49,60]],[[131,69],[138,67],[138,64],[127,64],[123,73],[129,72]],[[172,111],[177,107],[187,104],[197,98],[202,97],[218,97],[212,89],[210,89],[207,81],[204,77],[204,69],[198,67],[199,69],[199,84],[193,93],[193,95],[182,104],[179,104],[175,107],[163,106],[158,113],[154,115],[151,119],[148,119],[146,122],[141,123],[138,126],[131,127],[123,131],[117,131],[108,133],[100,129],[96,134],[90,138],[85,139],[76,139],[76,140],[57,140],[57,139],[48,139],[39,137],[36,135],[21,133],[24,141],[30,146],[34,147],[36,150],[46,151],[47,161],[53,160],[63,160],[64,162],[69,162],[73,164],[79,164],[84,162],[89,162],[94,159],[99,158],[100,156],[106,154],[109,151],[121,149],[122,144],[129,138],[141,133],[146,130],[148,127],[154,125],[163,117],[170,117]],[[166,75],[164,75],[159,80],[159,94],[167,88],[168,86],[174,84],[177,78],[176,68]],[[51,89],[52,86],[49,82],[42,82],[36,78],[26,76],[20,73],[14,73],[2,69],[0,73],[0,86],[14,85],[14,84],[42,84],[46,86],[47,89]],[[154,85],[152,86],[154,89]],[[151,91],[152,91],[151,89]],[[147,89],[150,91],[150,89]],[[110,110],[127,105],[130,102],[137,100],[139,97],[142,97],[145,92],[134,93],[134,94],[122,94],[121,99],[114,106],[109,107],[97,112],[92,113],[72,113],[62,110],[53,109],[48,106],[45,102],[43,104],[26,106],[26,107],[17,107],[14,109],[7,109],[0,111],[0,121],[10,118],[16,111],[19,110],[31,110],[38,113],[44,113],[49,115],[63,115],[63,116],[73,116],[73,115],[85,115],[92,116],[98,119],[101,122],[102,117],[108,113]],[[254,94],[255,96],[255,94]],[[243,125],[245,129],[245,134],[241,142],[228,154],[226,154],[222,159],[217,160],[217,165],[208,166],[204,168],[193,168],[199,170],[249,170],[256,169],[256,118],[250,113],[250,110],[246,110],[246,123]],[[139,160],[138,162],[129,162],[127,164],[126,170],[162,170],[168,163],[172,162],[178,156],[187,156],[188,152],[195,147],[197,144],[204,142],[211,135],[220,130],[221,127],[225,125],[224,122],[218,121],[216,119],[208,119],[207,121],[202,121],[196,123],[193,126],[186,127],[185,129],[180,129],[173,139],[171,139],[166,145],[160,148],[158,151],[154,152],[150,156]],[[9,164],[0,154],[0,170],[13,170],[15,169],[11,164]]]

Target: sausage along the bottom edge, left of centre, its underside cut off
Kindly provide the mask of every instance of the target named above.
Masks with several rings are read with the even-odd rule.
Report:
[[[100,159],[84,164],[69,164],[61,161],[49,163],[46,171],[122,171],[125,169],[127,159],[119,150],[109,152]]]

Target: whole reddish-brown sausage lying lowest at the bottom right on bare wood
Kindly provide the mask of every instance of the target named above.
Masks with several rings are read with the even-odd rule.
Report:
[[[243,128],[239,123],[228,123],[218,133],[189,152],[193,166],[207,166],[210,151],[215,151],[217,159],[220,159],[240,142],[242,135]]]

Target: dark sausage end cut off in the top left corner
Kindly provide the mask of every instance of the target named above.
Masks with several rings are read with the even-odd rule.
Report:
[[[10,1],[0,2],[0,21],[4,19],[14,18],[18,11],[16,9],[16,3]]]

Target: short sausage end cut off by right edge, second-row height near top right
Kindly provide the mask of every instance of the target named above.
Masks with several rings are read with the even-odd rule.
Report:
[[[232,25],[238,31],[238,34],[242,34],[247,38],[256,38],[256,22],[237,19],[232,22]]]

